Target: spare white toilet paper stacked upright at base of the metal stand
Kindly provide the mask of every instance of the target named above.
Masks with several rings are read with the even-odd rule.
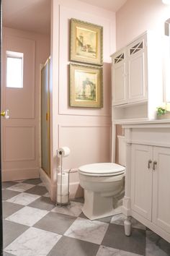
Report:
[[[68,202],[69,186],[68,173],[58,174],[57,202]],[[62,178],[61,178],[62,176]]]

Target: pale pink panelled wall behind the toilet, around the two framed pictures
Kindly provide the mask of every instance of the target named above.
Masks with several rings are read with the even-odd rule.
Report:
[[[53,199],[56,186],[56,150],[61,146],[71,148],[71,155],[63,161],[64,168],[74,168],[86,163],[111,160],[111,59],[115,51],[115,13],[108,12],[80,1],[52,1],[52,187]],[[71,108],[68,104],[69,88],[69,21],[84,20],[104,28],[104,107]],[[78,189],[78,174],[71,174]]]

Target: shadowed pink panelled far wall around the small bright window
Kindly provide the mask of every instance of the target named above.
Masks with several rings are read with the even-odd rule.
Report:
[[[6,50],[24,52],[22,89],[6,88]],[[40,168],[40,64],[50,55],[50,36],[3,27],[2,176],[4,180],[39,176]]]

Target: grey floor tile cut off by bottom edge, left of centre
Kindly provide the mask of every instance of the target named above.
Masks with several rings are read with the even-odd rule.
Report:
[[[63,236],[48,256],[95,256],[98,248],[98,244]]]

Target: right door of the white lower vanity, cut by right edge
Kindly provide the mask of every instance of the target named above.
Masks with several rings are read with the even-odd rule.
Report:
[[[153,223],[170,233],[170,148],[153,148]]]

